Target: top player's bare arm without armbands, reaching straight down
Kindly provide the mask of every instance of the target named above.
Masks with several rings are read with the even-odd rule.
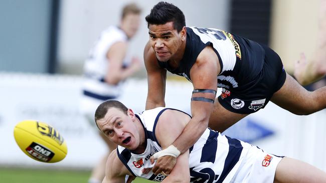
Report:
[[[144,62],[147,71],[147,99],[145,109],[165,106],[167,70],[159,67],[149,43],[144,48]]]

